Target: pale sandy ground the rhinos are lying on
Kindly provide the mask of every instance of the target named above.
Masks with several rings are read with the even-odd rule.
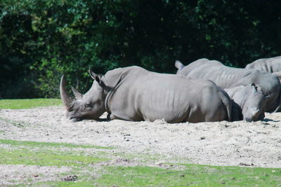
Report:
[[[254,123],[178,124],[108,121],[106,113],[100,121],[72,123],[64,115],[63,106],[2,109],[1,118],[18,123],[0,121],[0,139],[114,146],[124,153],[161,154],[165,161],[281,167],[281,113],[266,113],[265,120]]]

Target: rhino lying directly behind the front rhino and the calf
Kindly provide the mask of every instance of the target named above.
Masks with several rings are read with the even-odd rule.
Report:
[[[206,58],[196,60],[188,66],[184,66],[179,61],[176,61],[175,65],[178,68],[176,74],[211,80],[223,89],[254,83],[261,88],[263,95],[269,96],[266,102],[267,112],[277,111],[280,108],[280,82],[276,76],[266,71],[226,67],[221,62]]]

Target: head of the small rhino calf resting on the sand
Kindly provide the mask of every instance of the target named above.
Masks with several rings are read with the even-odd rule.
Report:
[[[235,98],[236,97],[236,98]],[[233,98],[242,109],[243,119],[247,122],[263,120],[268,97],[261,92],[261,88],[254,83],[244,86]],[[240,99],[237,99],[240,97]]]

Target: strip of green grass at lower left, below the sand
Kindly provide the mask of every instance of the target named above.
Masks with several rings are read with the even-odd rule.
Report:
[[[15,141],[0,139],[0,144],[11,145],[0,148],[0,163],[6,165],[39,165],[39,166],[76,166],[84,167],[89,163],[108,160],[105,154],[100,157],[85,155],[85,151],[73,151],[72,148],[105,148],[91,145],[75,145],[66,143],[48,143],[38,141]],[[56,151],[51,148],[68,148]],[[97,155],[99,151],[95,151]]]

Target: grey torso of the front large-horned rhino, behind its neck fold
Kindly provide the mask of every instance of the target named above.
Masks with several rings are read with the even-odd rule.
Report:
[[[164,118],[168,123],[227,120],[226,107],[218,93],[214,93],[218,90],[210,84],[136,68],[123,76],[108,105],[117,118],[125,120]]]

